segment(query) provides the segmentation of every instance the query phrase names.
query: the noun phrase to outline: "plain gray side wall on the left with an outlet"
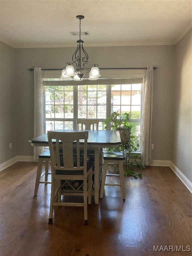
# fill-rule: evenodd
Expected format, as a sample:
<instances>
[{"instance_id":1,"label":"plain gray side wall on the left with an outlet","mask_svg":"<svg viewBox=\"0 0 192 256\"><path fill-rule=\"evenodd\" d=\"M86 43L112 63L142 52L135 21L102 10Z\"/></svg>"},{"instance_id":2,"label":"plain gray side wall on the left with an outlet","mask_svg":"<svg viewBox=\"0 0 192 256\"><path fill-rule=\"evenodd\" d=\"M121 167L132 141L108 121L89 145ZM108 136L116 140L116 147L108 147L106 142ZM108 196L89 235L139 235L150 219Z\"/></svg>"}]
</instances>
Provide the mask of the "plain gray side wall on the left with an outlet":
<instances>
[{"instance_id":1,"label":"plain gray side wall on the left with an outlet","mask_svg":"<svg viewBox=\"0 0 192 256\"><path fill-rule=\"evenodd\" d=\"M0 164L18 155L17 135L18 125L16 110L18 99L15 92L16 82L16 51L0 41ZM12 143L13 148L9 148Z\"/></svg>"}]
</instances>

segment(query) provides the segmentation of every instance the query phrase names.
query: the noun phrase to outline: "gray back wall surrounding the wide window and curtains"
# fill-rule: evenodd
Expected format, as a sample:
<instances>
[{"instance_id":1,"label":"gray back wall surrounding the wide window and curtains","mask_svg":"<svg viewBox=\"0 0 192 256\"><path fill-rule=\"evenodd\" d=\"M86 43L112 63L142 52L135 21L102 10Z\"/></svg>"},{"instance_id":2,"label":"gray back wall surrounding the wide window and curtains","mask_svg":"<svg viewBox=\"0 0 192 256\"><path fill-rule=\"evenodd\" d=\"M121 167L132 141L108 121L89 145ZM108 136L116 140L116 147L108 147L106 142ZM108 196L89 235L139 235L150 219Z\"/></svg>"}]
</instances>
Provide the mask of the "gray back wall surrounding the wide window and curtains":
<instances>
[{"instance_id":1,"label":"gray back wall surrounding the wide window and curtains","mask_svg":"<svg viewBox=\"0 0 192 256\"><path fill-rule=\"evenodd\" d=\"M170 160L175 46L88 47L86 50L90 64L97 63L101 68L158 67L154 71L153 159ZM16 49L18 90L23 97L19 108L23 109L22 118L28 120L20 127L24 145L20 144L21 155L32 155L32 147L27 141L33 137L33 72L27 69L62 68L71 60L74 51L75 48Z\"/></svg>"}]
</instances>

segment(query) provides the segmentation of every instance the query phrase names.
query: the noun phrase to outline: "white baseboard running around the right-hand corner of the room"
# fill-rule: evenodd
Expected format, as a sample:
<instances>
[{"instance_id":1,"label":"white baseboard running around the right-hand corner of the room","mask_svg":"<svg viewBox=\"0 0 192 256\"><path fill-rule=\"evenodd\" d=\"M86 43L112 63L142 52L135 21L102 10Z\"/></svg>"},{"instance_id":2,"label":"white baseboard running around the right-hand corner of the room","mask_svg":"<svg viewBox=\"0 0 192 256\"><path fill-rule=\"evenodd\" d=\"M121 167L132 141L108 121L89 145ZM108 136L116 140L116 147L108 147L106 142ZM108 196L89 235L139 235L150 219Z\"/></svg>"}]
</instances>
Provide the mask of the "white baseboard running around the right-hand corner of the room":
<instances>
[{"instance_id":1,"label":"white baseboard running around the right-hand corner of the room","mask_svg":"<svg viewBox=\"0 0 192 256\"><path fill-rule=\"evenodd\" d=\"M183 182L187 189L192 193L192 182L169 160L153 160L151 166L169 166L177 177Z\"/></svg>"}]
</instances>

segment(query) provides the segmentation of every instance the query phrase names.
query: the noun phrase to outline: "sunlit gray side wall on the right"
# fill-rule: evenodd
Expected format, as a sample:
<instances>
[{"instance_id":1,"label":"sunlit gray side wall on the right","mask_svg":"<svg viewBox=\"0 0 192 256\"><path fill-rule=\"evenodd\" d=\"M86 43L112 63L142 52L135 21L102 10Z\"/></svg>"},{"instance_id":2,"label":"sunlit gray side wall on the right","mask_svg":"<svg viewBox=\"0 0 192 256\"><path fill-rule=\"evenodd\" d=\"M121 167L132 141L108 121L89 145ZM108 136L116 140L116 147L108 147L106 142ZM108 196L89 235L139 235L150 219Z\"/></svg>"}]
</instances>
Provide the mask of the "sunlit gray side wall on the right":
<instances>
[{"instance_id":1,"label":"sunlit gray side wall on the right","mask_svg":"<svg viewBox=\"0 0 192 256\"><path fill-rule=\"evenodd\" d=\"M176 45L174 126L171 160L192 181L192 30Z\"/></svg>"}]
</instances>

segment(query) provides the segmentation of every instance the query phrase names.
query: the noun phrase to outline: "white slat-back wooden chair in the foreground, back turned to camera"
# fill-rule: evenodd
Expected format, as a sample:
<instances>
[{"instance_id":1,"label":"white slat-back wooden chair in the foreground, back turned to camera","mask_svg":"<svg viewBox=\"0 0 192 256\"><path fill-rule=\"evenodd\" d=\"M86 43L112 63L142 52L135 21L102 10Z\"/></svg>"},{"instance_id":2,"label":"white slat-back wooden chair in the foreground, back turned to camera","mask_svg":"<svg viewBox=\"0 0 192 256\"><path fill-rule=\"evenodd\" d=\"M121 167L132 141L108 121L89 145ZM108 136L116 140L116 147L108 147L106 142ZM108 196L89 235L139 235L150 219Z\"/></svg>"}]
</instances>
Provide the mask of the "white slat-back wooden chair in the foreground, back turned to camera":
<instances>
[{"instance_id":1,"label":"white slat-back wooden chair in the foreground, back turned to camera","mask_svg":"<svg viewBox=\"0 0 192 256\"><path fill-rule=\"evenodd\" d=\"M87 161L88 131L57 132L48 131L48 142L51 156L51 199L49 223L53 222L53 206L83 206L84 224L87 225L87 197L91 204L92 163ZM53 140L53 141L52 141ZM80 143L80 140L83 140ZM56 142L55 142L56 141ZM74 141L76 143L74 144ZM55 147L53 147L53 144ZM80 150L81 146L81 150ZM83 148L83 151L82 151ZM62 192L63 180L69 185L69 189ZM88 190L78 187L78 191L71 184L71 180L79 180L87 186ZM67 192L68 191L68 192ZM61 202L61 195L81 195L83 203ZM64 198L63 198L64 199ZM63 200L62 199L62 200Z\"/></svg>"}]
</instances>

